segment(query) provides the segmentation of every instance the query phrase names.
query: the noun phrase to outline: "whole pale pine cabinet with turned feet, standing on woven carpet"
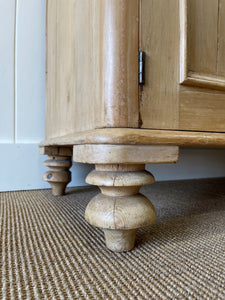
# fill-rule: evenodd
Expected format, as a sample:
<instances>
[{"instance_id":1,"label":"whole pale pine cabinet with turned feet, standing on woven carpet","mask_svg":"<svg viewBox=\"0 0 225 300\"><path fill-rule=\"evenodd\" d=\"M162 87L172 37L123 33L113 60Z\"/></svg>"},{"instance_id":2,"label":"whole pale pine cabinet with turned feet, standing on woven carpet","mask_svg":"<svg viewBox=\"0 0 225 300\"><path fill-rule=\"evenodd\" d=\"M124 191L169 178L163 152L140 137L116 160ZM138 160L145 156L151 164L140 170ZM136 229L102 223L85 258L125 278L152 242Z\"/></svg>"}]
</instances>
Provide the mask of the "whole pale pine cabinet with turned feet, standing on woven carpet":
<instances>
[{"instance_id":1,"label":"whole pale pine cabinet with turned feet, standing on woven carpet","mask_svg":"<svg viewBox=\"0 0 225 300\"><path fill-rule=\"evenodd\" d=\"M44 180L62 195L71 157L95 164L85 218L130 250L156 218L145 164L225 147L225 0L47 0L46 41Z\"/></svg>"}]
</instances>

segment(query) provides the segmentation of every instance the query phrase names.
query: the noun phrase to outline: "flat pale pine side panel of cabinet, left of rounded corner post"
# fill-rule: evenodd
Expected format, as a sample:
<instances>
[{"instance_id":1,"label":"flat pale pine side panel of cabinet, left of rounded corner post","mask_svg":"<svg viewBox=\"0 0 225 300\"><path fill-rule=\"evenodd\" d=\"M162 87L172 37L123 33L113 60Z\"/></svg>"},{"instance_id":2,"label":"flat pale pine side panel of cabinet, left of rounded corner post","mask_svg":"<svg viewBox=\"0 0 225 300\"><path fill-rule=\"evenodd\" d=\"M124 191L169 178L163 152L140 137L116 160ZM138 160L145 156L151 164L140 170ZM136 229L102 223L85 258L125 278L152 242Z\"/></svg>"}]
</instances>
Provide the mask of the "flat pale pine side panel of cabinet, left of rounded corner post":
<instances>
[{"instance_id":1,"label":"flat pale pine side panel of cabinet, left of rounded corner post","mask_svg":"<svg viewBox=\"0 0 225 300\"><path fill-rule=\"evenodd\" d=\"M47 1L46 138L104 126L99 0Z\"/></svg>"}]
</instances>

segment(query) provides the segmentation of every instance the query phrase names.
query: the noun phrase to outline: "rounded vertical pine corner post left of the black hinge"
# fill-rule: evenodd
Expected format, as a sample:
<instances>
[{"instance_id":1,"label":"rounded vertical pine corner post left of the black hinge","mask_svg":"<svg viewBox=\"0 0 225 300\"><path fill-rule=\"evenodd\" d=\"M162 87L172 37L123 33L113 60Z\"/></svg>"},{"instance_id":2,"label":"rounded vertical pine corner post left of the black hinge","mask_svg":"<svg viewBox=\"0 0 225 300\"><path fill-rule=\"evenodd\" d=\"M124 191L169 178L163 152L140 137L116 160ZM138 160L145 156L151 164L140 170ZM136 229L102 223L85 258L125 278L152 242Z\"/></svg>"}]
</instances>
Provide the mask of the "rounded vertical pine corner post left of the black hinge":
<instances>
[{"instance_id":1,"label":"rounded vertical pine corner post left of the black hinge","mask_svg":"<svg viewBox=\"0 0 225 300\"><path fill-rule=\"evenodd\" d=\"M138 126L138 0L102 0L105 127Z\"/></svg>"}]
</instances>

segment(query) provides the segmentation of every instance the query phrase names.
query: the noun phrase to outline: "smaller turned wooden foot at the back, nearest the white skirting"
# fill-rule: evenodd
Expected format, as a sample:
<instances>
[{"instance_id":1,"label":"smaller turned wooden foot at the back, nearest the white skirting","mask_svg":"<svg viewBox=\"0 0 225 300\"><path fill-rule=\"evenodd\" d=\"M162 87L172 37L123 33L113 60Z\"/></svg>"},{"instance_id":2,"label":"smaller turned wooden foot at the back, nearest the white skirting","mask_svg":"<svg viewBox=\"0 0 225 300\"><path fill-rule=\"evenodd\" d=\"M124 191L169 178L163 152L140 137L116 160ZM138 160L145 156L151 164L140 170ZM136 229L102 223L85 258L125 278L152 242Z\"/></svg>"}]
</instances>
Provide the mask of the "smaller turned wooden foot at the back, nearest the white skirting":
<instances>
[{"instance_id":1,"label":"smaller turned wooden foot at the back, nearest the white skirting","mask_svg":"<svg viewBox=\"0 0 225 300\"><path fill-rule=\"evenodd\" d=\"M53 196L64 195L66 186L71 181L71 157L49 156L43 164L50 169L44 174L43 180L51 185Z\"/></svg>"}]
</instances>

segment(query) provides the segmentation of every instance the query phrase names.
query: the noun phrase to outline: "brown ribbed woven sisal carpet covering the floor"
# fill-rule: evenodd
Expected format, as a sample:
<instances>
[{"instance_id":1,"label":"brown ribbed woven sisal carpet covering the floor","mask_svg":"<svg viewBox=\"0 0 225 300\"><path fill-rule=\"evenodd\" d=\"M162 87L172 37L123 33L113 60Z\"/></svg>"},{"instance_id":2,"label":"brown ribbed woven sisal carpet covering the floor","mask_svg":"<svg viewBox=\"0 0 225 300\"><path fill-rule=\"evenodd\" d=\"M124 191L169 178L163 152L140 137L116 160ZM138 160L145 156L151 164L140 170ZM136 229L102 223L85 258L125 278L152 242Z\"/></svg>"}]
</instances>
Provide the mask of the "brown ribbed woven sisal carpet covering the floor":
<instances>
[{"instance_id":1,"label":"brown ribbed woven sisal carpet covering the floor","mask_svg":"<svg viewBox=\"0 0 225 300\"><path fill-rule=\"evenodd\" d=\"M145 187L157 222L112 253L83 218L97 188L0 194L0 299L225 299L225 179Z\"/></svg>"}]
</instances>

